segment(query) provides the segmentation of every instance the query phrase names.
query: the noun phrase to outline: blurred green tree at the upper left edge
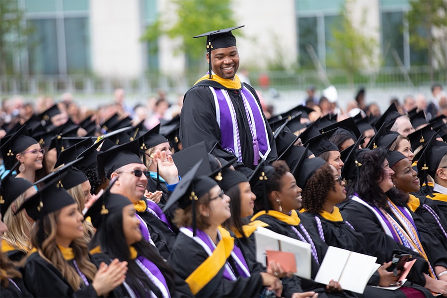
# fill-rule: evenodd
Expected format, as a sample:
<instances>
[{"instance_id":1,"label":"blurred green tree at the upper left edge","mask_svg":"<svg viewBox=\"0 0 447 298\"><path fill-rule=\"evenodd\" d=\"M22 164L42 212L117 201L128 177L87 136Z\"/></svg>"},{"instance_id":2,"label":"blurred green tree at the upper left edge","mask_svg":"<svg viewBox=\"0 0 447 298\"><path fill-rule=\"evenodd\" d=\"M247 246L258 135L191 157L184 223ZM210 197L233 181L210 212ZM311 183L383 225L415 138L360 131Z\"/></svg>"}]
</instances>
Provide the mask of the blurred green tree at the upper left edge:
<instances>
[{"instance_id":1,"label":"blurred green tree at the upper left edge","mask_svg":"<svg viewBox=\"0 0 447 298\"><path fill-rule=\"evenodd\" d=\"M0 0L0 74L14 74L13 55L26 47L26 35L31 32L17 0Z\"/></svg>"}]
</instances>

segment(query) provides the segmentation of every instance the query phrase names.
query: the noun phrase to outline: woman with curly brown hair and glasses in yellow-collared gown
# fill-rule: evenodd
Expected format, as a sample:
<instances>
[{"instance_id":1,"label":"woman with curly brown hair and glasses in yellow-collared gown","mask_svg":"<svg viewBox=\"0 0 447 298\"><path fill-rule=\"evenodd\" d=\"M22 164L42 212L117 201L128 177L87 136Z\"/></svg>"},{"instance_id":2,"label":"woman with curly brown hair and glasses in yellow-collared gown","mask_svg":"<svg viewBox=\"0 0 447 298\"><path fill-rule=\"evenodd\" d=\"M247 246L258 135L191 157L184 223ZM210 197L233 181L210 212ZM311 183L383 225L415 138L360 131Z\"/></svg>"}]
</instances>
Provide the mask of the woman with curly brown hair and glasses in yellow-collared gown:
<instances>
[{"instance_id":1,"label":"woman with curly brown hair and glasses in yellow-collared gown","mask_svg":"<svg viewBox=\"0 0 447 298\"><path fill-rule=\"evenodd\" d=\"M311 170L306 168L306 171ZM345 199L345 182L335 167L329 163L319 166L305 181L302 191L302 207L306 210L305 215L314 218L313 223L318 229L321 240L331 246L367 254L365 237L362 233L355 231L354 227L342 216L336 206ZM383 263L374 273L368 282L369 286L365 289L365 297L422 295L421 292L415 292L415 289L400 288L395 291L388 291L370 287L377 285L389 287L398 281L398 275L386 270L389 266L391 266L391 261ZM410 286L410 283L407 282L407 285ZM414 285L414 287L419 291L425 292L424 295L430 295L427 289L417 285Z\"/></svg>"}]
</instances>

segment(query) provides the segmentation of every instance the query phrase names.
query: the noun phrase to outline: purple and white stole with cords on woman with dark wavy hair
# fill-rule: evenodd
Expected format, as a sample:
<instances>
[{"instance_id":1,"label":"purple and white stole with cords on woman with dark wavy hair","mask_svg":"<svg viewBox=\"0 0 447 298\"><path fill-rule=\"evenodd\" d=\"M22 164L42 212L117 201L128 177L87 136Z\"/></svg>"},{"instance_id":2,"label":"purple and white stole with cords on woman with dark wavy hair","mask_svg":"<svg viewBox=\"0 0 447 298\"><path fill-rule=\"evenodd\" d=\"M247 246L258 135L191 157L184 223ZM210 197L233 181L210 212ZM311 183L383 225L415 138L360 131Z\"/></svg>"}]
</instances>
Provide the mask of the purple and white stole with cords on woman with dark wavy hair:
<instances>
[{"instance_id":1,"label":"purple and white stole with cords on woman with dark wavy hair","mask_svg":"<svg viewBox=\"0 0 447 298\"><path fill-rule=\"evenodd\" d=\"M416 225L414 224L413 218L411 217L411 214L408 210L403 207L394 205L394 203L392 203L388 199L388 206L390 207L391 212L398 218L399 223L402 224L401 226L383 208L370 206L368 203L366 203L356 195L352 196L351 199L370 209L380 222L383 231L388 236L392 237L394 241L419 253L429 265L430 276L434 279L437 279L435 271L433 270L433 267L428 260L427 254L425 253L424 248L419 241L419 235Z\"/></svg>"}]
</instances>

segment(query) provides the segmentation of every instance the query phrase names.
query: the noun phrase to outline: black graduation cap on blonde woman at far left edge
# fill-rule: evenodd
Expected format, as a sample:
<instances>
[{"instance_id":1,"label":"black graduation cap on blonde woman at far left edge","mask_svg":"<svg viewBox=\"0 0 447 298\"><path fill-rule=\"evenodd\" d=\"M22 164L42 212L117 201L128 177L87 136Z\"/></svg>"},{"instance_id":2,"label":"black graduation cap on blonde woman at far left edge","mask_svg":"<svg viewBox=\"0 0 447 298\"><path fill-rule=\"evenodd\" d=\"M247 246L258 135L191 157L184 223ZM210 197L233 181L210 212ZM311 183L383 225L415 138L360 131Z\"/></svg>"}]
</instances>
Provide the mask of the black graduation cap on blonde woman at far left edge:
<instances>
[{"instance_id":1,"label":"black graduation cap on blonde woman at far left edge","mask_svg":"<svg viewBox=\"0 0 447 298\"><path fill-rule=\"evenodd\" d=\"M8 210L12 202L17 199L28 188L33 187L33 184L23 178L14 178L11 173L17 168L19 162L16 162L14 167L1 179L0 185L0 214L2 218Z\"/></svg>"}]
</instances>

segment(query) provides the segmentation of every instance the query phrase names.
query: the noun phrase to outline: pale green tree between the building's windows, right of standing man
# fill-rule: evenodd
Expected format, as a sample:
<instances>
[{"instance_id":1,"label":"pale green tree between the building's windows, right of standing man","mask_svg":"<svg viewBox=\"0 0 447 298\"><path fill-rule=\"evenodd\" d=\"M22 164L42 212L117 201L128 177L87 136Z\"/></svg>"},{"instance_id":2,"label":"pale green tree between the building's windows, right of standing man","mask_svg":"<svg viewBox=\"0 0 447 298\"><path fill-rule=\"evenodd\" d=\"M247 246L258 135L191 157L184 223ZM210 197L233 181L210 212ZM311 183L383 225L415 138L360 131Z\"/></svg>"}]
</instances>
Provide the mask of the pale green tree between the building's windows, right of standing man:
<instances>
[{"instance_id":1,"label":"pale green tree between the building's windows, right of standing man","mask_svg":"<svg viewBox=\"0 0 447 298\"><path fill-rule=\"evenodd\" d=\"M354 26L349 4L349 1L346 1L341 10L340 25L331 30L332 39L328 42L329 57L326 65L343 70L349 82L354 84L355 74L375 68L380 60L375 52L378 48L377 40L358 29L366 23L366 11L363 11L360 26Z\"/></svg>"}]
</instances>

